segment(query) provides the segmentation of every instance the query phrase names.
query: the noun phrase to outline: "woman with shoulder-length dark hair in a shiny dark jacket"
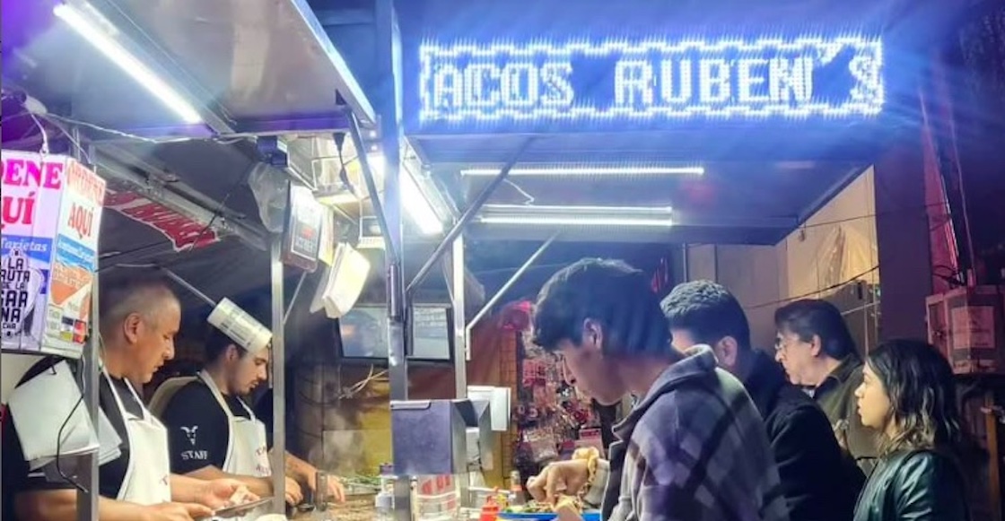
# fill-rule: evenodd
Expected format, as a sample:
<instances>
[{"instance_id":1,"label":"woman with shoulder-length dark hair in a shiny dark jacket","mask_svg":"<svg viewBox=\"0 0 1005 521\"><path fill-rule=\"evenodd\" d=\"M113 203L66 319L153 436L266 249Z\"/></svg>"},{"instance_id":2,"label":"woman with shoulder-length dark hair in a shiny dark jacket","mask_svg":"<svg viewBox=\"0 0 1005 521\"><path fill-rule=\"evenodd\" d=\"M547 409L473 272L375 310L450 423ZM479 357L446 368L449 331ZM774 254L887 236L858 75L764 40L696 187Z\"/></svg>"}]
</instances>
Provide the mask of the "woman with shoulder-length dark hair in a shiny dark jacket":
<instances>
[{"instance_id":1,"label":"woman with shoulder-length dark hair in a shiny dark jacket","mask_svg":"<svg viewBox=\"0 0 1005 521\"><path fill-rule=\"evenodd\" d=\"M869 352L855 398L862 425L881 442L854 521L969 520L963 429L946 358L923 341L885 342Z\"/></svg>"}]
</instances>

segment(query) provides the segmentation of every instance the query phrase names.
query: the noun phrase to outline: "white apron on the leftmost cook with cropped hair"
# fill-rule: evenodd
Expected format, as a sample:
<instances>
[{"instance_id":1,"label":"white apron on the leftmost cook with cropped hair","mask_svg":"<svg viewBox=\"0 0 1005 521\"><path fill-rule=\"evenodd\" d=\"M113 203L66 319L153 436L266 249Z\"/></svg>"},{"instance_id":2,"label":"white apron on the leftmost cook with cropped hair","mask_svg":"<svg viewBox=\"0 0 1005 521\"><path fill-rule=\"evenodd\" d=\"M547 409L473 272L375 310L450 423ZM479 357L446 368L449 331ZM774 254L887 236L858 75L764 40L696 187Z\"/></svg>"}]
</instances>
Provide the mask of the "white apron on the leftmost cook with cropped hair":
<instances>
[{"instance_id":1,"label":"white apron on the leftmost cook with cropped hair","mask_svg":"<svg viewBox=\"0 0 1005 521\"><path fill-rule=\"evenodd\" d=\"M171 501L171 458L168 455L168 430L143 407L143 401L133 385L127 381L130 393L143 408L143 416L133 415L123 406L122 398L115 382L104 368L102 372L109 385L116 405L126 424L126 438L129 441L130 456L126 466L126 476L116 497L119 501L129 501L140 505L157 505Z\"/></svg>"}]
</instances>

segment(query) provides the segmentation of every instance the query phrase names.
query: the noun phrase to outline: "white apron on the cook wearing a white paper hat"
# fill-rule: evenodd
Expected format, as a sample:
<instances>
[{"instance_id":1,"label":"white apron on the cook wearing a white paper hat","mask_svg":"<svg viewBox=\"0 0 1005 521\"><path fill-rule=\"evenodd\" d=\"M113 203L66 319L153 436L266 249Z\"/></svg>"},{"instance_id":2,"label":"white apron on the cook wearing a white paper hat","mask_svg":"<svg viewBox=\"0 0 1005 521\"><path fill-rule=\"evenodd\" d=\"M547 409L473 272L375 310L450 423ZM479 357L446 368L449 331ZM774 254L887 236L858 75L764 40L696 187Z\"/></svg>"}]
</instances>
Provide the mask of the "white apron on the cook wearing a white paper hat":
<instances>
[{"instance_id":1,"label":"white apron on the cook wearing a white paper hat","mask_svg":"<svg viewBox=\"0 0 1005 521\"><path fill-rule=\"evenodd\" d=\"M213 381L213 378L206 371L200 371L199 377L209 387L209 390L213 394L213 398L216 399L220 408L223 409L223 413L227 415L227 431L230 433L230 436L227 437L227 456L223 460L223 469L221 470L227 474L237 476L251 476L254 478L270 477L272 475L272 467L268 459L268 439L265 437L265 424L261 423L254 416L254 413L244 405L243 401L238 402L240 402L244 411L247 411L250 418L234 416L230 411L230 406L227 405L227 401L224 400L223 394L220 393L219 387L216 386L216 382ZM243 517L232 519L250 521L268 512L269 507L263 506L252 510Z\"/></svg>"}]
</instances>

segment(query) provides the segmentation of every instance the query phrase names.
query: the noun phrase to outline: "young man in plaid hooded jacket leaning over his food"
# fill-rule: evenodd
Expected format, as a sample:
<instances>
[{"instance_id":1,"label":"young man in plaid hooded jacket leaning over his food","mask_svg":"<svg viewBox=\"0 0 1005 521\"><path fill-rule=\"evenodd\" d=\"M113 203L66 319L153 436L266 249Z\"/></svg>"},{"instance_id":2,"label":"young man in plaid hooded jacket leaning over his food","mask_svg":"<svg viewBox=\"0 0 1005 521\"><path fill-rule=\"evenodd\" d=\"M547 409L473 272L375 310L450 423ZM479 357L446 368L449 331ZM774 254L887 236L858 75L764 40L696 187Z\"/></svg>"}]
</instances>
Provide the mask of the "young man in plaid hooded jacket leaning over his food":
<instances>
[{"instance_id":1,"label":"young man in plaid hooded jacket leaning over his food","mask_svg":"<svg viewBox=\"0 0 1005 521\"><path fill-rule=\"evenodd\" d=\"M562 358L570 382L600 404L638 398L593 483L594 461L553 464L532 480L536 498L586 487L596 503L606 488L603 517L616 521L789 519L757 409L708 346L671 347L644 273L600 259L561 270L538 296L533 331Z\"/></svg>"}]
</instances>

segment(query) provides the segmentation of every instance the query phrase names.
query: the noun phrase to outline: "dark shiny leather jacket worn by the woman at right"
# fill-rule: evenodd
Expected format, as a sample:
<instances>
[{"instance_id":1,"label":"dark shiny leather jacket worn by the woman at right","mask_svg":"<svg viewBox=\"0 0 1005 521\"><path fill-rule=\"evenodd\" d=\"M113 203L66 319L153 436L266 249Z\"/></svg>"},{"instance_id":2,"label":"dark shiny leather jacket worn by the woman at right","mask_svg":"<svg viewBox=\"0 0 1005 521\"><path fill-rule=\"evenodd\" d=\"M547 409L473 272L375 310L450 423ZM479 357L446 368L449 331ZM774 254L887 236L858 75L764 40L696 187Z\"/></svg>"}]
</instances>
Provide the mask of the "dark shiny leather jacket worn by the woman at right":
<instances>
[{"instance_id":1,"label":"dark shiny leather jacket worn by the woman at right","mask_svg":"<svg viewBox=\"0 0 1005 521\"><path fill-rule=\"evenodd\" d=\"M903 451L879 460L854 521L968 521L963 473L949 456Z\"/></svg>"}]
</instances>

